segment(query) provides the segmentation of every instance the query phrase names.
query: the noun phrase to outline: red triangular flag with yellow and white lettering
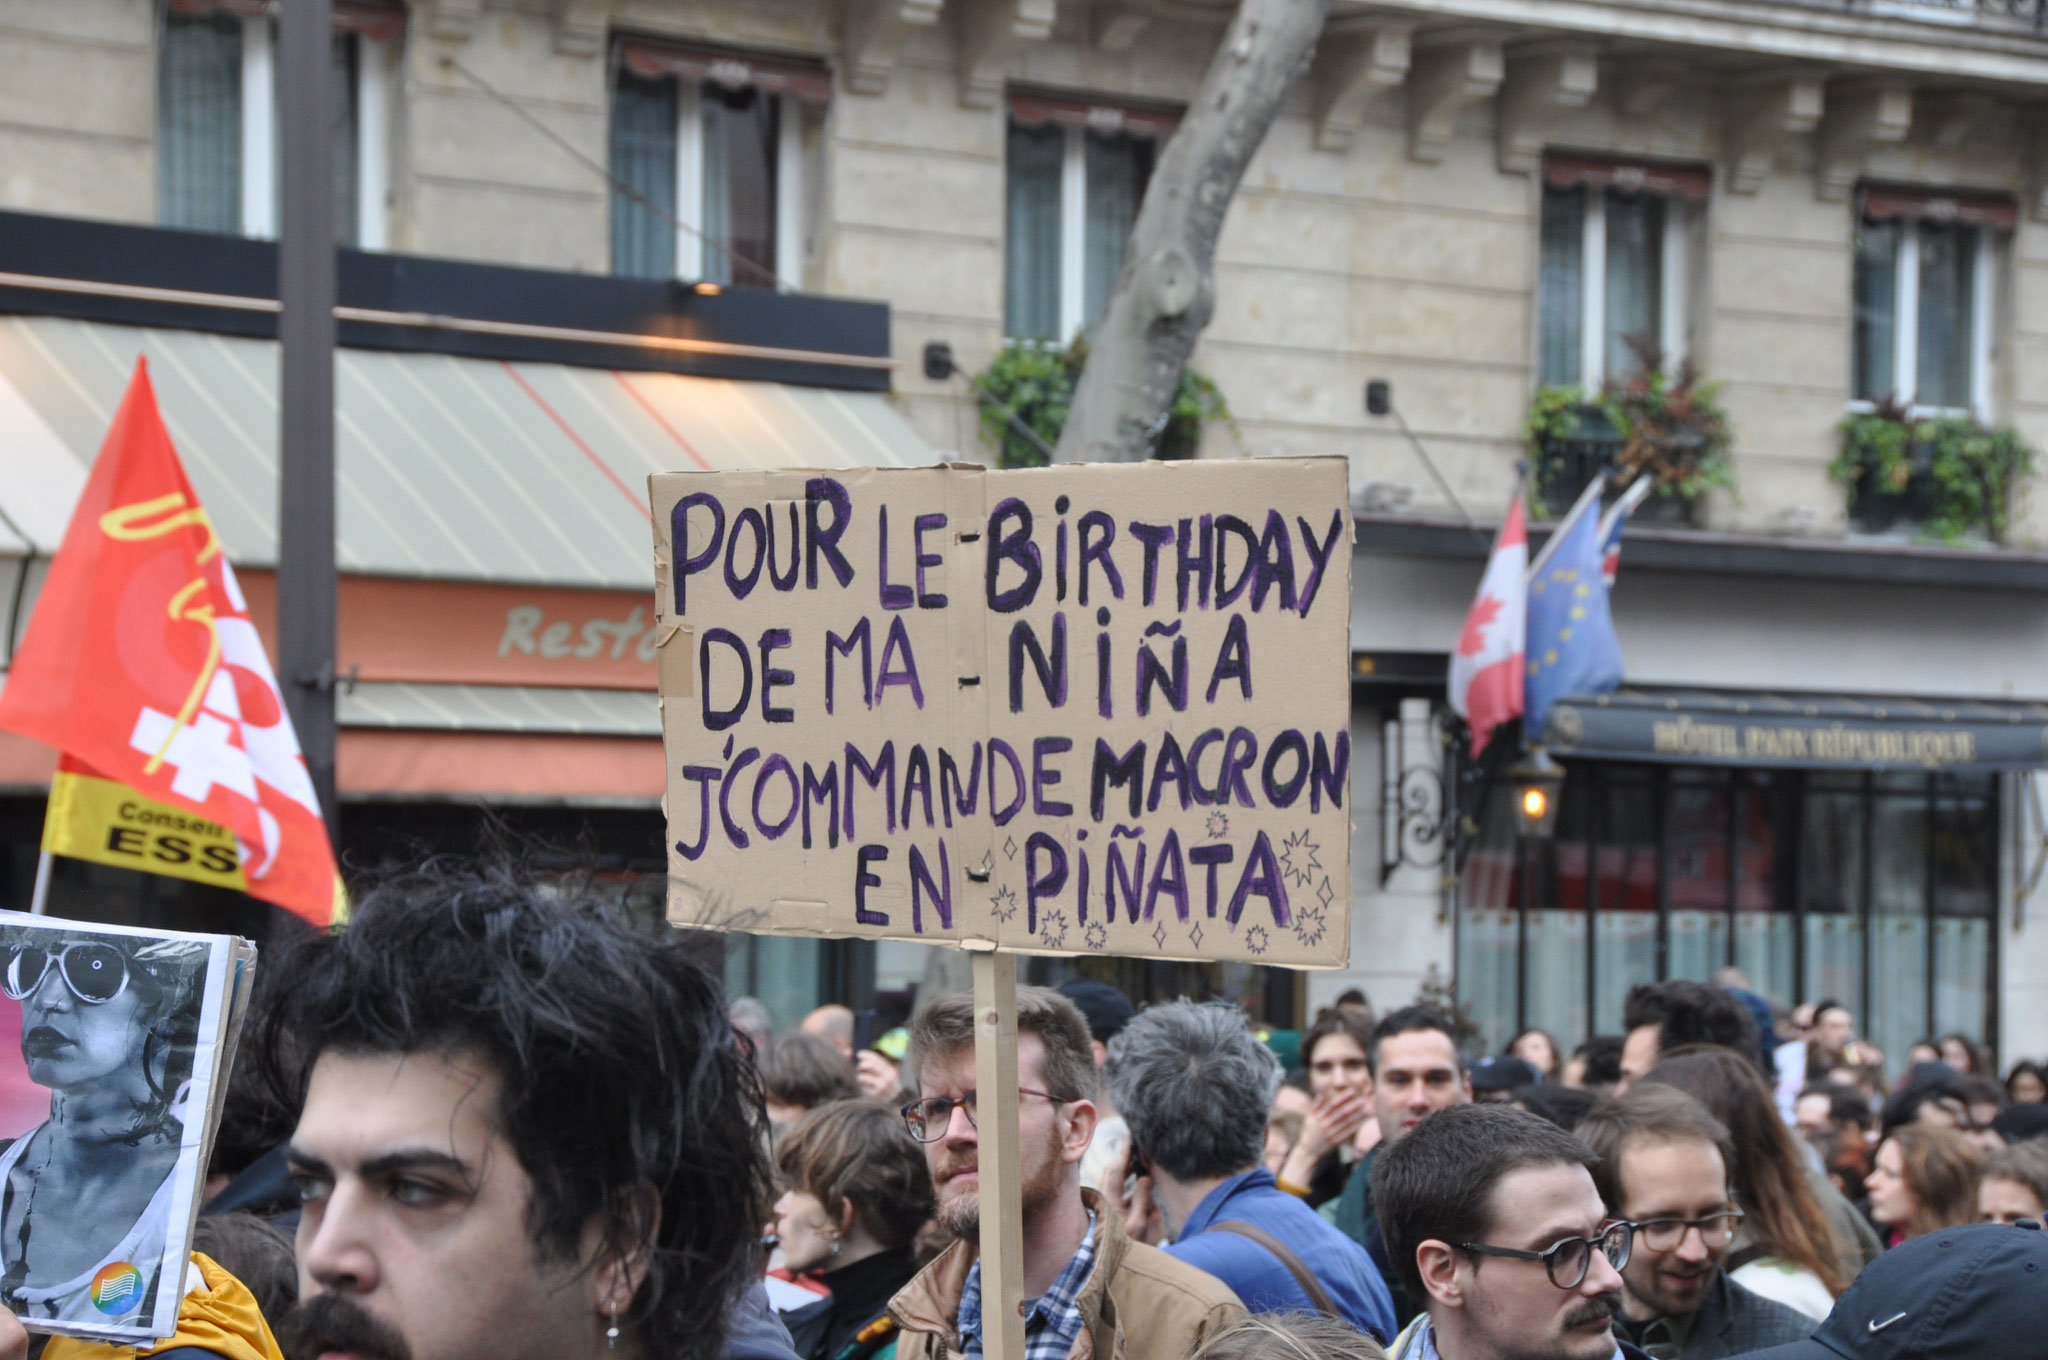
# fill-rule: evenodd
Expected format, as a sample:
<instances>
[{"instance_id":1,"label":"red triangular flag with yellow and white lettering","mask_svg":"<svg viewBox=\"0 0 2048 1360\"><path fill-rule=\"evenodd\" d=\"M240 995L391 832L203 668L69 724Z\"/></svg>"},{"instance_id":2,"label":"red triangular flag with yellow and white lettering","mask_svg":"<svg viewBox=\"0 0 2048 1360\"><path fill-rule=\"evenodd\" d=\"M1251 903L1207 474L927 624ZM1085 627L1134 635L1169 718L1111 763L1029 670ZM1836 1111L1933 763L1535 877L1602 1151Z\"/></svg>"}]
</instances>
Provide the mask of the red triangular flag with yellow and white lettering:
<instances>
[{"instance_id":1,"label":"red triangular flag with yellow and white lettering","mask_svg":"<svg viewBox=\"0 0 2048 1360\"><path fill-rule=\"evenodd\" d=\"M229 832L236 887L334 920L340 881L299 737L145 360L14 653L0 727L63 752L59 780L115 780ZM61 850L59 809L92 799L57 795L45 846ZM133 866L199 877L145 856Z\"/></svg>"}]
</instances>

